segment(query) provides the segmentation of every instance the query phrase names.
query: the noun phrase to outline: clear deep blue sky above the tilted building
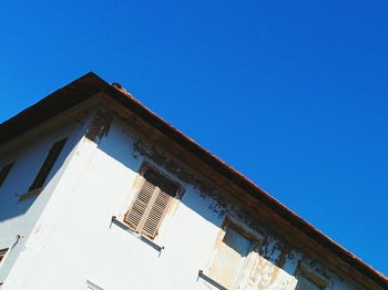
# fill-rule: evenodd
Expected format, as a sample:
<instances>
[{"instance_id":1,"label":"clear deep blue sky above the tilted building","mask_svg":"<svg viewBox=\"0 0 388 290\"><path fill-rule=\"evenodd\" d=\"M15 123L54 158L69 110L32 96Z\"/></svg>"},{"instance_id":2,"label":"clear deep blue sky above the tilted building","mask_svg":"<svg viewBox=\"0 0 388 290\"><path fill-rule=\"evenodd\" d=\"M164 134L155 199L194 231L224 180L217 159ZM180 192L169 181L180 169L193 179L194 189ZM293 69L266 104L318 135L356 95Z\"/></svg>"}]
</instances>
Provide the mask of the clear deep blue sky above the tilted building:
<instances>
[{"instance_id":1,"label":"clear deep blue sky above the tilted building","mask_svg":"<svg viewBox=\"0 0 388 290\"><path fill-rule=\"evenodd\" d=\"M63 2L0 3L0 122L94 71L388 273L387 1Z\"/></svg>"}]
</instances>

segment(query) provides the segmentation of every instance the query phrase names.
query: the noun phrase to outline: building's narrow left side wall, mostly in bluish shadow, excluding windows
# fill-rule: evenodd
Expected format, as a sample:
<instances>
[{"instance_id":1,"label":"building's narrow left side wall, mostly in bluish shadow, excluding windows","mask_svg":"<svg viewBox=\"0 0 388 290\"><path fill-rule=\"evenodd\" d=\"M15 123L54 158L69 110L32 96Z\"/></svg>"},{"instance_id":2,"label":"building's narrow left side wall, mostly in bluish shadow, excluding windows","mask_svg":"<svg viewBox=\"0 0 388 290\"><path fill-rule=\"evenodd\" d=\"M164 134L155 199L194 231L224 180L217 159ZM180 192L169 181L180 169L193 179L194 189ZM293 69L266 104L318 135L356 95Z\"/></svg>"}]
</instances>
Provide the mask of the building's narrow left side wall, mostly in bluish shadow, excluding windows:
<instances>
[{"instance_id":1,"label":"building's narrow left side wall, mostly in bluish shadow, excluding windows","mask_svg":"<svg viewBox=\"0 0 388 290\"><path fill-rule=\"evenodd\" d=\"M9 163L14 163L14 165L0 187L0 249L9 248L6 259L0 265L0 283L9 276L16 261L19 261L21 256L29 251L25 242L52 193L61 182L71 156L74 154L74 147L84 135L86 120L88 117L84 117L83 121L80 117L76 122L62 122L44 133L37 133L33 137L18 142L11 149L1 151L0 167ZM68 137L68 141L45 180L43 191L39 197L32 196L20 200L20 196L28 193L51 145L63 137ZM28 265L32 265L32 261L29 261ZM21 271L18 270L19 273ZM22 280L20 277L14 279Z\"/></svg>"}]
</instances>

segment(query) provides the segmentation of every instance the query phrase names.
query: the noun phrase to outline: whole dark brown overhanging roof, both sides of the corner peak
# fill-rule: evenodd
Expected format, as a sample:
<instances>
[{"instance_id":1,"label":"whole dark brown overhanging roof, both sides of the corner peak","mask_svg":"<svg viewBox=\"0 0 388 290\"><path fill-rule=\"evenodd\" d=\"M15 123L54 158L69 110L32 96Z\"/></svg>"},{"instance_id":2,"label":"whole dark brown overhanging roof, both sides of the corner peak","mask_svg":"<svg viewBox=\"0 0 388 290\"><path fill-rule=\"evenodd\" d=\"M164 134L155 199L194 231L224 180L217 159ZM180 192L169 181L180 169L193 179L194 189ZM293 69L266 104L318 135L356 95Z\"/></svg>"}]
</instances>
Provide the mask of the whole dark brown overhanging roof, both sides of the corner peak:
<instances>
[{"instance_id":1,"label":"whole dark brown overhanging roof, both sides of the corner peak","mask_svg":"<svg viewBox=\"0 0 388 290\"><path fill-rule=\"evenodd\" d=\"M254 198L258 199L262 204L274 210L277 215L290 222L297 229L302 230L309 238L317 241L320 246L335 253L363 275L369 277L379 286L388 289L388 278L386 276L378 272L358 257L346 250L344 247L325 236L318 229L265 193L247 177L232 168L229 165L195 143L195 141L187 137L160 116L151 112L124 90L119 89L116 85L109 84L93 72L90 72L64 87L51 93L37 104L25 108L18 115L0 124L0 146L21 134L27 133L55 115L76 106L99 92L104 92L114 101L131 110L144 122L159 130L170 139L174 141L198 159L236 184L238 187L253 195Z\"/></svg>"}]
</instances>

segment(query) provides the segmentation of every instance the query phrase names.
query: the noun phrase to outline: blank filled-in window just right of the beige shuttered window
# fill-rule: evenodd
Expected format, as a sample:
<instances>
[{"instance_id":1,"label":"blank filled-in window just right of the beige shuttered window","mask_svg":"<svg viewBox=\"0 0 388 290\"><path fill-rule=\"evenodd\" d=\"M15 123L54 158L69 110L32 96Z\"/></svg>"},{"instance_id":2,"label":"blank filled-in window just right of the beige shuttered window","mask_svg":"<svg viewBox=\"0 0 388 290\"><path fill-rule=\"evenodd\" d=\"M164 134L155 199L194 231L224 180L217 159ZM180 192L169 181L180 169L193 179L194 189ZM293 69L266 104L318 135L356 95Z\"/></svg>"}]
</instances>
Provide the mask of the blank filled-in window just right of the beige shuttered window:
<instances>
[{"instance_id":1,"label":"blank filled-in window just right of the beige shuttered window","mask_svg":"<svg viewBox=\"0 0 388 290\"><path fill-rule=\"evenodd\" d=\"M252 239L236 228L227 227L208 276L226 289L236 287L252 248Z\"/></svg>"}]
</instances>

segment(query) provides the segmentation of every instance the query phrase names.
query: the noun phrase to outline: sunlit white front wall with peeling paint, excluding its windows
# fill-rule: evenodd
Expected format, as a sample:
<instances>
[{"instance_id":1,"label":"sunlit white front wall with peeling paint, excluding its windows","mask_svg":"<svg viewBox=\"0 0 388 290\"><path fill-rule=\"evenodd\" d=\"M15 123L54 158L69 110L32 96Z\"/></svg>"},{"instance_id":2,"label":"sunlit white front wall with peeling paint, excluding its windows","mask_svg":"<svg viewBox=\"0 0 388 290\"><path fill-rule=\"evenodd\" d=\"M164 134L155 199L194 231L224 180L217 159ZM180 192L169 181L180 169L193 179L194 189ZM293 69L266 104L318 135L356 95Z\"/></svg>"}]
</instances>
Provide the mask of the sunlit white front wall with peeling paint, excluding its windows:
<instances>
[{"instance_id":1,"label":"sunlit white front wall with peeling paint, excluding its windows","mask_svg":"<svg viewBox=\"0 0 388 290\"><path fill-rule=\"evenodd\" d=\"M294 289L300 263L325 279L327 289L359 289L259 220L254 229L247 227L241 206L221 204L216 188L180 163L178 156L153 147L120 120L111 121L100 114L95 122L104 123L103 131L94 127L73 149L47 207L29 226L33 226L31 235L1 290L86 289L86 281L105 290L212 289L198 278L198 270L211 272L225 218L256 240L239 289ZM164 247L161 251L111 221L112 216L123 219L144 163L183 188L154 240ZM38 199L45 200L44 195ZM35 203L37 211L42 211L44 203ZM16 234L7 234L7 239Z\"/></svg>"}]
</instances>

